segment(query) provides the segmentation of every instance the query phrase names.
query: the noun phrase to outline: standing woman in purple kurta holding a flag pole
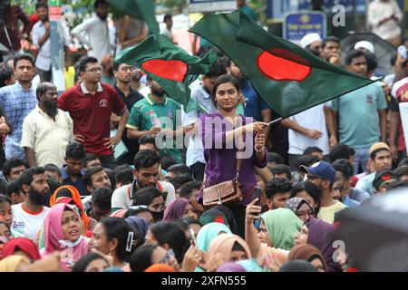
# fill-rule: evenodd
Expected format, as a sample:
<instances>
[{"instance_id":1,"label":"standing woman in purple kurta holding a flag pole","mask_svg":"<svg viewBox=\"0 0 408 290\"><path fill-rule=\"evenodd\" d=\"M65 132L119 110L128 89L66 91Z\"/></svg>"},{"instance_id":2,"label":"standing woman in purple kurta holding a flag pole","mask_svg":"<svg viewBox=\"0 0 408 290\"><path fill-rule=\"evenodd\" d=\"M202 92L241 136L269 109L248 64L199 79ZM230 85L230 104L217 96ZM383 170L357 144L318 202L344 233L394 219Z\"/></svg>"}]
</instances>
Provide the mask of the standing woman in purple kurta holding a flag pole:
<instances>
[{"instance_id":1,"label":"standing woman in purple kurta holding a flag pole","mask_svg":"<svg viewBox=\"0 0 408 290\"><path fill-rule=\"evenodd\" d=\"M242 152L242 164L238 182L243 200L241 204L228 205L238 223L239 236L244 236L245 207L252 201L257 185L255 167L267 166L264 122L253 122L250 117L237 114L239 85L236 78L225 74L214 84L213 100L218 107L215 113L200 118L199 132L204 147L205 188L236 178L238 146ZM238 141L238 137L243 137ZM202 198L202 192L199 195Z\"/></svg>"}]
</instances>

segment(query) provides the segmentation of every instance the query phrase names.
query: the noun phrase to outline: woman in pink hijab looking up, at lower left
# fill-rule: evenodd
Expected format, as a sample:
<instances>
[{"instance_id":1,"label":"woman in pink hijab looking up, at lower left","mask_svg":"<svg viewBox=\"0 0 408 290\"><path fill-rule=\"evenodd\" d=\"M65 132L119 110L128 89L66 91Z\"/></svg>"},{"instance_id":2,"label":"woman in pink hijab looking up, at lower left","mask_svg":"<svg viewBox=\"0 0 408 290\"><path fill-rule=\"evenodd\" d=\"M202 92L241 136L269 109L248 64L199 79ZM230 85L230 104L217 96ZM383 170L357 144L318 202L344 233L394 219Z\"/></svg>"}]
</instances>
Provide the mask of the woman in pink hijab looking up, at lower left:
<instances>
[{"instance_id":1,"label":"woman in pink hijab looking up, at lower left","mask_svg":"<svg viewBox=\"0 0 408 290\"><path fill-rule=\"evenodd\" d=\"M48 211L44 220L43 256L62 251L61 259L64 271L82 256L88 254L88 240L81 235L81 218L73 206L56 204Z\"/></svg>"}]
</instances>

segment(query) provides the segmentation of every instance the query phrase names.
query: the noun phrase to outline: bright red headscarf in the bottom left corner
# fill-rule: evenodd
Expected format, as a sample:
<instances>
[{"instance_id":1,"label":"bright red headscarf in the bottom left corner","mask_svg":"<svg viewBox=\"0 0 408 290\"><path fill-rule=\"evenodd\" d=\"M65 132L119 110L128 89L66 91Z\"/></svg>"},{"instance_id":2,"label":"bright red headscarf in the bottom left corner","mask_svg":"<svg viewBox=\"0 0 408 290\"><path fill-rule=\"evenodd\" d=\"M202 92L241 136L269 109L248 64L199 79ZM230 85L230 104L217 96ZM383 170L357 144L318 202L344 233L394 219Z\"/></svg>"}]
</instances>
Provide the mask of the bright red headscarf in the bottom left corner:
<instances>
[{"instance_id":1,"label":"bright red headscarf in the bottom left corner","mask_svg":"<svg viewBox=\"0 0 408 290\"><path fill-rule=\"evenodd\" d=\"M12 255L24 256L31 261L41 259L38 247L31 239L26 237L15 237L5 243L2 251L3 258Z\"/></svg>"}]
</instances>

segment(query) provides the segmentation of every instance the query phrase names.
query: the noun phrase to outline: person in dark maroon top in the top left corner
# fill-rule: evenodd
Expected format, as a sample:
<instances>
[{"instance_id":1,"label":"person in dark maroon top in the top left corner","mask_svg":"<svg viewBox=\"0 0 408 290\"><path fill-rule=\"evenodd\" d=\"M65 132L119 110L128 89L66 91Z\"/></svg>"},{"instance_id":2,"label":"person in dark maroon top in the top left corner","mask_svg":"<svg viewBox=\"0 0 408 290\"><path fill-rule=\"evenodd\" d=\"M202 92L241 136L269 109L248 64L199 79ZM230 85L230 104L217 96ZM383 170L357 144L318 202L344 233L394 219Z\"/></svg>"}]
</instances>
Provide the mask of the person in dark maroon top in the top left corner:
<instances>
[{"instance_id":1,"label":"person in dark maroon top in the top left corner","mask_svg":"<svg viewBox=\"0 0 408 290\"><path fill-rule=\"evenodd\" d=\"M9 0L1 1L0 3L0 43L5 45L9 53L4 53L3 58L6 59L13 54L16 54L21 49L20 39L26 38L30 34L30 20L19 6L10 5ZM24 24L23 33L20 33L18 20ZM5 30L8 34L5 34ZM11 43L11 45L10 45Z\"/></svg>"}]
</instances>

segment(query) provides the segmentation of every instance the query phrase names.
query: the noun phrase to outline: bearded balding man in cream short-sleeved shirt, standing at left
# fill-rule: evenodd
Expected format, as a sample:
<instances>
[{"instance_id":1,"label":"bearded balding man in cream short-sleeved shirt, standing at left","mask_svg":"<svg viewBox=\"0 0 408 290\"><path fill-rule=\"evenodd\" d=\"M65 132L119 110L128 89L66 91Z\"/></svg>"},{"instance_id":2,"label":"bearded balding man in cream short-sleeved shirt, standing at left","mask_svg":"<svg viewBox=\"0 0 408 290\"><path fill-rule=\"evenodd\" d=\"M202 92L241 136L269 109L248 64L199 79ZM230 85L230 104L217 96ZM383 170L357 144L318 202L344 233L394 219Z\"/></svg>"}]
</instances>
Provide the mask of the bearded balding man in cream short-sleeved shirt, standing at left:
<instances>
[{"instance_id":1,"label":"bearded balding man in cream short-sleeved shirt, standing at left","mask_svg":"<svg viewBox=\"0 0 408 290\"><path fill-rule=\"evenodd\" d=\"M51 82L42 82L36 94L39 103L24 119L20 146L30 167L52 163L60 168L66 147L74 140L73 120L58 109L57 89Z\"/></svg>"}]
</instances>

